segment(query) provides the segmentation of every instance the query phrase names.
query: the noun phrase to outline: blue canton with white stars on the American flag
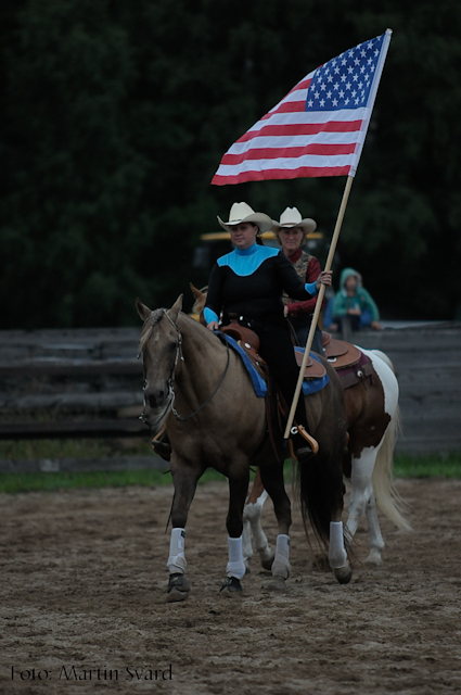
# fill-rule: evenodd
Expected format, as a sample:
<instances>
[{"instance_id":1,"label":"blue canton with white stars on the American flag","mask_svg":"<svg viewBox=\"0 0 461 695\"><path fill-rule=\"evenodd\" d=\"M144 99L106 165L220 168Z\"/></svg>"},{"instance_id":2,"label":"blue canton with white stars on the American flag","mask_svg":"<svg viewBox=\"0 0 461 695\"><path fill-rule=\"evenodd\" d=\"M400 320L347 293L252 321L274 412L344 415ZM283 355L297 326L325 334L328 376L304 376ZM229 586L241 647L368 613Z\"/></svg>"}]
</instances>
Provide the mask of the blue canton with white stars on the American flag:
<instances>
[{"instance_id":1,"label":"blue canton with white stars on the American flag","mask_svg":"<svg viewBox=\"0 0 461 695\"><path fill-rule=\"evenodd\" d=\"M366 106L383 40L384 34L318 67L307 90L305 111Z\"/></svg>"}]
</instances>

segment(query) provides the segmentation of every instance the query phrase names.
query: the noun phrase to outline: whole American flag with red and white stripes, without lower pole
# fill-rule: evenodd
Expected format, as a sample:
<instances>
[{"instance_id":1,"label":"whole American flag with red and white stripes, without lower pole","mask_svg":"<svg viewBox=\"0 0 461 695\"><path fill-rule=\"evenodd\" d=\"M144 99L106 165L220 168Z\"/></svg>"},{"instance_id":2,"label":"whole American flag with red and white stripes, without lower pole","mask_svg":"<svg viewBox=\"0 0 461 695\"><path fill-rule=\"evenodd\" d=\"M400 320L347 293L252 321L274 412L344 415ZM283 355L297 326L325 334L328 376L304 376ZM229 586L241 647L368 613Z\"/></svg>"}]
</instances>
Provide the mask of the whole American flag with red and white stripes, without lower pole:
<instances>
[{"instance_id":1,"label":"whole American flag with red and white stripes, without lower pole","mask_svg":"<svg viewBox=\"0 0 461 695\"><path fill-rule=\"evenodd\" d=\"M392 31L304 77L228 150L212 184L354 176Z\"/></svg>"}]
</instances>

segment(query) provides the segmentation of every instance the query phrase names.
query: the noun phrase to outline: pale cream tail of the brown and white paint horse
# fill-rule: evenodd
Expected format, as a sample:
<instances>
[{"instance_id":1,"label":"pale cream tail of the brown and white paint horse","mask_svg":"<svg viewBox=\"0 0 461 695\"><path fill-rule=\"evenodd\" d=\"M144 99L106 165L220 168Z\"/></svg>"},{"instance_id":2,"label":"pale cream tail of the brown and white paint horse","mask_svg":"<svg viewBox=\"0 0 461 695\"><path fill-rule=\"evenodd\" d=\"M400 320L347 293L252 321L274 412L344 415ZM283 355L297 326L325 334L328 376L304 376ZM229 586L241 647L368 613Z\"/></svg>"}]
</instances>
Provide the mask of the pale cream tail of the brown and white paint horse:
<instances>
[{"instance_id":1,"label":"pale cream tail of the brown and white paint horse","mask_svg":"<svg viewBox=\"0 0 461 695\"><path fill-rule=\"evenodd\" d=\"M410 523L404 517L408 505L400 497L394 484L394 446L400 431L400 409L397 406L377 452L371 481L381 511L402 531L412 531Z\"/></svg>"}]
</instances>

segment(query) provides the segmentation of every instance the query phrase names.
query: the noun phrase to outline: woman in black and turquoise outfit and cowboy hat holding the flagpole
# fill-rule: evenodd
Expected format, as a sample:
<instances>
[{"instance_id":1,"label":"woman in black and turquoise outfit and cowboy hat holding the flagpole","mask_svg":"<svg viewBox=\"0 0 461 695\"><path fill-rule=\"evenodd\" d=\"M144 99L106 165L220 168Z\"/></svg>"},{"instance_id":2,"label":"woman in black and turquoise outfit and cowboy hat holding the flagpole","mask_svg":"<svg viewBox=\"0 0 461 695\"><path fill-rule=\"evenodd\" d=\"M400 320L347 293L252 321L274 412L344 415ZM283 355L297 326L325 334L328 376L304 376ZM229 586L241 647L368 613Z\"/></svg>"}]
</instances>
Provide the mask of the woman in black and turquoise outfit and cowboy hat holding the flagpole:
<instances>
[{"instance_id":1,"label":"woman in black and turquoise outfit and cowboy hat holding the flagpole","mask_svg":"<svg viewBox=\"0 0 461 695\"><path fill-rule=\"evenodd\" d=\"M234 250L218 258L212 269L204 309L207 327L217 330L220 320L229 324L233 314L242 326L253 329L260 340L260 354L290 407L299 368L282 294L285 291L293 299L308 300L321 283L331 285L331 271L320 273L313 282L304 282L281 249L262 245L260 235L269 231L273 222L246 203L234 203L228 222L220 217L218 222L230 232ZM298 399L295 420L309 431L303 397ZM293 446L300 463L312 455L311 446L299 432L293 434Z\"/></svg>"}]
</instances>

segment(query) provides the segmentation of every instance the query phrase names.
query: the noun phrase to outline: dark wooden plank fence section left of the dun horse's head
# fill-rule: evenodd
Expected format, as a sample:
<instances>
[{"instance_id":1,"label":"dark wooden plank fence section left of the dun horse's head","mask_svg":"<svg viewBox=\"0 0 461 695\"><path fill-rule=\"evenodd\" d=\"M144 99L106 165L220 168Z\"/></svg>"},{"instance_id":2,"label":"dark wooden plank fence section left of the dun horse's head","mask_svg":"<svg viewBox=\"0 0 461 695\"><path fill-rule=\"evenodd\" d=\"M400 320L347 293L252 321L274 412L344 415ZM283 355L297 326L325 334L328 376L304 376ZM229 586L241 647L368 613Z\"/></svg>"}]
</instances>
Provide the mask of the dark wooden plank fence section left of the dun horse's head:
<instances>
[{"instance_id":1,"label":"dark wooden plank fence section left of the dun horse's head","mask_svg":"<svg viewBox=\"0 0 461 695\"><path fill-rule=\"evenodd\" d=\"M139 334L0 332L0 439L148 435Z\"/></svg>"}]
</instances>

